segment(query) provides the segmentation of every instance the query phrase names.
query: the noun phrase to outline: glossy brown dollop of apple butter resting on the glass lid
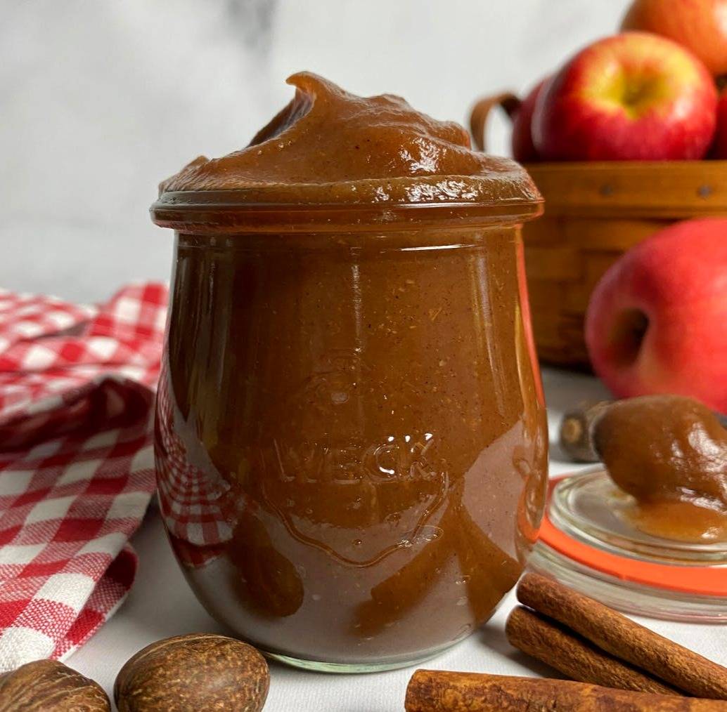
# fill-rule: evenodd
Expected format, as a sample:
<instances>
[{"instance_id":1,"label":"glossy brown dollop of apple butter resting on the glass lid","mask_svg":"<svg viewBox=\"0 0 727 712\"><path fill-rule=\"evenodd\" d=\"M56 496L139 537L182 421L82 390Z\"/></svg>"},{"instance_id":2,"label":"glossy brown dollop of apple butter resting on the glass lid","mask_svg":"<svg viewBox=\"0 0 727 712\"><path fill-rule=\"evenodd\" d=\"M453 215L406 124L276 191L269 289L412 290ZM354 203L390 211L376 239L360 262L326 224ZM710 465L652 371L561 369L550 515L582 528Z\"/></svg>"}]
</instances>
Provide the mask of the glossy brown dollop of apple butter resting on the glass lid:
<instances>
[{"instance_id":1,"label":"glossy brown dollop of apple butter resting on the glass lid","mask_svg":"<svg viewBox=\"0 0 727 712\"><path fill-rule=\"evenodd\" d=\"M691 398L644 396L606 409L595 443L636 499L643 531L684 541L727 540L727 430Z\"/></svg>"}]
</instances>

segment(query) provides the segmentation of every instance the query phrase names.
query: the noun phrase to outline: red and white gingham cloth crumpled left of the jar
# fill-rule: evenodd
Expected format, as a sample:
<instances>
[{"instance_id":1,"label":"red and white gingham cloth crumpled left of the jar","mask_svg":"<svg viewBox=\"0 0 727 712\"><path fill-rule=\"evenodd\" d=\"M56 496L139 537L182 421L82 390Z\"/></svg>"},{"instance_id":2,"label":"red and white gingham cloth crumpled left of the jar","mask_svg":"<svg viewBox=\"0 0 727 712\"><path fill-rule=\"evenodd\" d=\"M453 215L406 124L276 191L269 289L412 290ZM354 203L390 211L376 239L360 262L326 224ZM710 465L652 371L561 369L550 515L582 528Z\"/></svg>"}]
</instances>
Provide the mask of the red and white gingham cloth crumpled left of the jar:
<instances>
[{"instance_id":1,"label":"red and white gingham cloth crumpled left of the jar","mask_svg":"<svg viewBox=\"0 0 727 712\"><path fill-rule=\"evenodd\" d=\"M129 592L166 299L0 290L0 672L70 655Z\"/></svg>"}]
</instances>

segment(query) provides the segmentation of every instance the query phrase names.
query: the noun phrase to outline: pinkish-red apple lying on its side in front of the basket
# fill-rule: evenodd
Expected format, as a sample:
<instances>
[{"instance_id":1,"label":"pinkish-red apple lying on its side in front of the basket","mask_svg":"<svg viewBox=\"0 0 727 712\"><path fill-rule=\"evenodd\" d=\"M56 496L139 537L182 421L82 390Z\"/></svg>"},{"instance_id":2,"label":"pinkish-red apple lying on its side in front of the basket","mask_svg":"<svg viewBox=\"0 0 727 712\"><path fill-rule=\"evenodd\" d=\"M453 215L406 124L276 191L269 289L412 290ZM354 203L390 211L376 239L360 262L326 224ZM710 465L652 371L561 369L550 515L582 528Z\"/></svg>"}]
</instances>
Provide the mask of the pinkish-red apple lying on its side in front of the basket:
<instances>
[{"instance_id":1,"label":"pinkish-red apple lying on its side in front of the basket","mask_svg":"<svg viewBox=\"0 0 727 712\"><path fill-rule=\"evenodd\" d=\"M727 218L676 223L619 258L585 336L616 396L677 393L727 413Z\"/></svg>"}]
</instances>

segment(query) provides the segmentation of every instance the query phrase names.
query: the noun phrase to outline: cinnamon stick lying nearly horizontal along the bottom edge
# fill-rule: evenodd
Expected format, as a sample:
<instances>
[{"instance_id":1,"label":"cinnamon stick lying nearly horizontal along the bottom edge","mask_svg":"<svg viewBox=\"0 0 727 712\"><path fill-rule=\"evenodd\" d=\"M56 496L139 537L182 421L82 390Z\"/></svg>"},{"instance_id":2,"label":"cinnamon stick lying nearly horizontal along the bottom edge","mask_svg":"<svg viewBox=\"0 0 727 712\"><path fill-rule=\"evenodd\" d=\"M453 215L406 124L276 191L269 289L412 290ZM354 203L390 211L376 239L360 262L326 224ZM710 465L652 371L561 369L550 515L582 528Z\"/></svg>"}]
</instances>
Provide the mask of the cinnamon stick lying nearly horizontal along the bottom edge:
<instances>
[{"instance_id":1,"label":"cinnamon stick lying nearly horizontal along the bottom edge","mask_svg":"<svg viewBox=\"0 0 727 712\"><path fill-rule=\"evenodd\" d=\"M726 712L727 702L612 690L571 680L417 670L406 712Z\"/></svg>"}]
</instances>

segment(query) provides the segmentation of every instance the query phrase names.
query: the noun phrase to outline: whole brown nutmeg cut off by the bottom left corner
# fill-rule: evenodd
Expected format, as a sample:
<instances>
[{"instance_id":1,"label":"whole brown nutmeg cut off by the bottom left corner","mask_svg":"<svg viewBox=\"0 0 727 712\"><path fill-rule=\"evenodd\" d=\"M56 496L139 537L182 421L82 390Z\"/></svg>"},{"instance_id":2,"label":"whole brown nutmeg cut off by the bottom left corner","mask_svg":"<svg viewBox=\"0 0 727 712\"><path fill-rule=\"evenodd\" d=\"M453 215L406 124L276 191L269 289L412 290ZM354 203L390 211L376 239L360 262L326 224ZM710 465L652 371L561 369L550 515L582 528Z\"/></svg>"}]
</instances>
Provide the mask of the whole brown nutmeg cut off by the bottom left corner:
<instances>
[{"instance_id":1,"label":"whole brown nutmeg cut off by the bottom left corner","mask_svg":"<svg viewBox=\"0 0 727 712\"><path fill-rule=\"evenodd\" d=\"M0 712L111 712L103 687L57 660L0 676Z\"/></svg>"}]
</instances>

